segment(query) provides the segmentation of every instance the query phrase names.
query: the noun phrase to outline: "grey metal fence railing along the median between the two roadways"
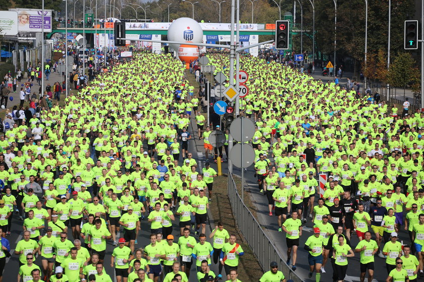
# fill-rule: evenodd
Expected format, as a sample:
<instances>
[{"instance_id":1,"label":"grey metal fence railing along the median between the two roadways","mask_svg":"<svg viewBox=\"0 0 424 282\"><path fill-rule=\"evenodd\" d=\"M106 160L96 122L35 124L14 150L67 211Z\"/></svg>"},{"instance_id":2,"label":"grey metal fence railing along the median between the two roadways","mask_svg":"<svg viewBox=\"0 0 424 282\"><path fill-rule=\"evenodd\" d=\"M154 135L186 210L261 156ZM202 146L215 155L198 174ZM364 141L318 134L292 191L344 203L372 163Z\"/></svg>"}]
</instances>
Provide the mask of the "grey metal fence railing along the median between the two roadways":
<instances>
[{"instance_id":1,"label":"grey metal fence railing along the median between the two roadways","mask_svg":"<svg viewBox=\"0 0 424 282\"><path fill-rule=\"evenodd\" d=\"M263 233L260 224L242 202L231 174L228 175L227 187L234 219L262 269L264 271L270 270L270 263L276 261L279 264L279 270L284 273L286 279L293 279L294 282L302 282L303 280L289 268L281 253L277 250L277 247Z\"/></svg>"}]
</instances>

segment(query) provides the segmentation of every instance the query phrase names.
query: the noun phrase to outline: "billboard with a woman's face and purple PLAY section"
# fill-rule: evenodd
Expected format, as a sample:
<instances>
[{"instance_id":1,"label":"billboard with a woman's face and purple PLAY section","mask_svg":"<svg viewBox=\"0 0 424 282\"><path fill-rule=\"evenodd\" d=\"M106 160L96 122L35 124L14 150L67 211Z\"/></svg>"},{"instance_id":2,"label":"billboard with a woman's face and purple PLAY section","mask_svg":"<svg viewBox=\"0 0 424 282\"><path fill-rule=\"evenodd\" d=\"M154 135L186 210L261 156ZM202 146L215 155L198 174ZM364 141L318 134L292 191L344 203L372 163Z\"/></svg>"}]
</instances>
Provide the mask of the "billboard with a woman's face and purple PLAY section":
<instances>
[{"instance_id":1,"label":"billboard with a woman's face and purple PLAY section","mask_svg":"<svg viewBox=\"0 0 424 282\"><path fill-rule=\"evenodd\" d=\"M41 32L42 19L44 18L44 32L51 32L51 10L37 9L9 9L15 11L18 15L18 31L19 32Z\"/></svg>"}]
</instances>

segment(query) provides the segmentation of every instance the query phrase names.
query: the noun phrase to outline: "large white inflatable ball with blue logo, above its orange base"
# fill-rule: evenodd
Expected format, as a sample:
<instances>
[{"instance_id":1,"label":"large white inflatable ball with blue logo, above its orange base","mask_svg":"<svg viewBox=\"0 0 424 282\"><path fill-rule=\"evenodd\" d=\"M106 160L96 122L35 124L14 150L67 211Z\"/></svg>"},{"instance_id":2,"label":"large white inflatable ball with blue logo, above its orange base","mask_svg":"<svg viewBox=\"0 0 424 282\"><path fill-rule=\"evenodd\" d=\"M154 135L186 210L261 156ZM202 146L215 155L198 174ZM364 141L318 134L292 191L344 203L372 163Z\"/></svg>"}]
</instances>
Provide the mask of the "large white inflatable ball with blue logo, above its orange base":
<instances>
[{"instance_id":1,"label":"large white inflatable ball with blue logo, above its orange base","mask_svg":"<svg viewBox=\"0 0 424 282\"><path fill-rule=\"evenodd\" d=\"M191 18L179 18L171 23L168 28L169 41L183 41L201 43L203 30L198 22ZM180 44L170 44L178 52Z\"/></svg>"}]
</instances>

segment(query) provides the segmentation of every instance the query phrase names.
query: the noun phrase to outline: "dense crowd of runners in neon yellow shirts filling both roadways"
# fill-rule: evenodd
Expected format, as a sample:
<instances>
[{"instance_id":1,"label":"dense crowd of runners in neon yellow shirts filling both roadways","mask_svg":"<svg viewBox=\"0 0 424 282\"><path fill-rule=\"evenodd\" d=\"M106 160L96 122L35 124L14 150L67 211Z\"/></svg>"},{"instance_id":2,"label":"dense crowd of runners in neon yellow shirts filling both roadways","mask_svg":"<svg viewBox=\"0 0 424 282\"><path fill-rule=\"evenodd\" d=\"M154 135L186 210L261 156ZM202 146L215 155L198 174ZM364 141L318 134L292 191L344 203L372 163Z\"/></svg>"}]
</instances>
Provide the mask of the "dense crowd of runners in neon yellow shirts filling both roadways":
<instances>
[{"instance_id":1,"label":"dense crowd of runners in neon yellow shirts filling both roadways","mask_svg":"<svg viewBox=\"0 0 424 282\"><path fill-rule=\"evenodd\" d=\"M228 72L227 54L209 60ZM245 56L241 65L249 73L241 112L256 125L250 143L258 190L284 232L292 270L302 225L311 221L314 235L300 247L316 281L328 260L333 280L343 281L355 253L361 281L366 273L372 281L375 256L385 260L389 282L424 277L423 114L404 108L398 115L396 105L274 61ZM0 136L0 270L17 255L18 282L110 282L113 275L168 282L188 281L195 263L199 281L222 279L224 271L237 281L244 251L236 236L222 223L206 236L217 177L211 164L222 149L208 140L215 128L202 114L200 92L180 61L143 52L99 74L65 105L42 108L27 122L13 119L19 122ZM188 146L196 138L206 151L202 169ZM328 181L320 194L322 173ZM16 229L23 239L14 246L7 238ZM151 233L141 249L140 230ZM403 246L402 232L410 238ZM261 282L285 281L277 263L270 268Z\"/></svg>"}]
</instances>

